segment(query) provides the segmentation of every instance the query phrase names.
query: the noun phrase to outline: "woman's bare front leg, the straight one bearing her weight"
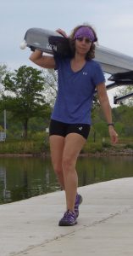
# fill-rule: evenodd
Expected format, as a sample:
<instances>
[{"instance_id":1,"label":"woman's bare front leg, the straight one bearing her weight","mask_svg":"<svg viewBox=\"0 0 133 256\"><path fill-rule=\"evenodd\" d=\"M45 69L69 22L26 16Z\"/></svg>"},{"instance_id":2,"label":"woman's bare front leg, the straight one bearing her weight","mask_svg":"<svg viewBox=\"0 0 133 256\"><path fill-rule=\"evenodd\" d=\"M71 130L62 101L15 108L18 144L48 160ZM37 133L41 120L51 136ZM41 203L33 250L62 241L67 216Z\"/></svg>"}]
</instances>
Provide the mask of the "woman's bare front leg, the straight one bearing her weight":
<instances>
[{"instance_id":1,"label":"woman's bare front leg, the straight one bearing her weight","mask_svg":"<svg viewBox=\"0 0 133 256\"><path fill-rule=\"evenodd\" d=\"M78 187L78 177L75 171L75 165L80 154L81 148L86 143L86 139L80 134L69 133L64 141L64 154L63 154L63 172L64 172L64 187L66 194L67 209L75 212L75 196Z\"/></svg>"}]
</instances>

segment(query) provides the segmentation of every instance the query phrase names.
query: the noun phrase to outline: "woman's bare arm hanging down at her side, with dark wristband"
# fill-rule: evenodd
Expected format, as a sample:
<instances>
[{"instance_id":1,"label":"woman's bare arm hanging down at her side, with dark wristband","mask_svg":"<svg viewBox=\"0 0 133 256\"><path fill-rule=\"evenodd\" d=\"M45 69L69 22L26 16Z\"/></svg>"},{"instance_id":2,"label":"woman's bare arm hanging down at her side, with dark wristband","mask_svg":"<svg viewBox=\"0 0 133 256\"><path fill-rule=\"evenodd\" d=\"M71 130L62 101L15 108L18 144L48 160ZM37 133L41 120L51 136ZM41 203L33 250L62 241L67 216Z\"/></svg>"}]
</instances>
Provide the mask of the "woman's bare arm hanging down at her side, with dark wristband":
<instances>
[{"instance_id":1,"label":"woman's bare arm hanging down at her side, with dark wristband","mask_svg":"<svg viewBox=\"0 0 133 256\"><path fill-rule=\"evenodd\" d=\"M100 105L103 109L105 119L107 120L107 123L112 124L112 122L113 122L112 121L112 111L111 111L111 108L110 108L110 104L109 104L109 101L108 101L108 94L107 94L106 86L105 86L104 83L97 84L97 95L98 95ZM109 132L109 135L111 137L111 142L112 143L117 143L118 142L118 134L114 130L113 125L108 125L108 132Z\"/></svg>"}]
</instances>

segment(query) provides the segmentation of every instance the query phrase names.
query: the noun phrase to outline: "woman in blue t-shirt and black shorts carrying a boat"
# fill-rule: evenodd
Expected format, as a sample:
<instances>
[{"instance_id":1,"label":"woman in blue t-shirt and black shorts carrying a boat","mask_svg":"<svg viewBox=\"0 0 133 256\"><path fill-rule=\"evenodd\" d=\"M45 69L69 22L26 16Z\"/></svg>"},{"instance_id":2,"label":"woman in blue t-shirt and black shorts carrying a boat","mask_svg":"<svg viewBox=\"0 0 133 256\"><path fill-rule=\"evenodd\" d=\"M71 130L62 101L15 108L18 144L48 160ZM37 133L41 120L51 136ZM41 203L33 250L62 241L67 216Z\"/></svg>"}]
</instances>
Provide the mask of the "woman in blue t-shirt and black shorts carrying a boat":
<instances>
[{"instance_id":1,"label":"woman in blue t-shirt and black shorts carrying a boat","mask_svg":"<svg viewBox=\"0 0 133 256\"><path fill-rule=\"evenodd\" d=\"M62 30L58 30L66 36ZM101 67L93 61L97 34L91 26L77 26L71 33L71 58L42 55L36 50L30 55L40 67L58 70L58 96L50 124L50 148L54 172L65 190L66 212L60 226L77 223L81 195L77 194L78 177L75 170L81 148L86 143L91 126L91 105L95 89L107 120L112 143L117 133L112 123L105 79Z\"/></svg>"}]
</instances>

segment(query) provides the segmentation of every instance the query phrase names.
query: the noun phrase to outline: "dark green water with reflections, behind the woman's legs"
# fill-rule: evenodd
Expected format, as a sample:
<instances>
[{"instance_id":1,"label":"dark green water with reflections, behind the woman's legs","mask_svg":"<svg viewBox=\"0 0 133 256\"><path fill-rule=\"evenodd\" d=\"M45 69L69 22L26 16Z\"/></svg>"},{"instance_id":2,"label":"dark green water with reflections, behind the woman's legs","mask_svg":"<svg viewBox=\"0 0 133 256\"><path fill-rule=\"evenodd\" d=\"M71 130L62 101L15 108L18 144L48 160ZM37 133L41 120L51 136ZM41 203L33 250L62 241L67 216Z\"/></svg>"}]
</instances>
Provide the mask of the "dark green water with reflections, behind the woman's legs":
<instances>
[{"instance_id":1,"label":"dark green water with reflections, behind the woman's legs","mask_svg":"<svg viewBox=\"0 0 133 256\"><path fill-rule=\"evenodd\" d=\"M133 177L133 156L80 157L79 186ZM49 158L0 158L0 204L59 190Z\"/></svg>"}]
</instances>

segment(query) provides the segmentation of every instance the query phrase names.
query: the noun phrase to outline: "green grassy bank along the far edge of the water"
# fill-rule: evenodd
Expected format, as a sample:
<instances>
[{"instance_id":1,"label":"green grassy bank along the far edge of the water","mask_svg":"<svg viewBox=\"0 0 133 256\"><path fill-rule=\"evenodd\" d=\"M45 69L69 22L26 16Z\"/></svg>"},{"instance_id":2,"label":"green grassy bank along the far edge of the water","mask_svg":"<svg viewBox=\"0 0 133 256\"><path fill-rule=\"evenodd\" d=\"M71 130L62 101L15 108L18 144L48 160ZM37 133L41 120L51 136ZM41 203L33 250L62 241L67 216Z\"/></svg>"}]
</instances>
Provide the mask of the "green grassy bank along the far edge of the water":
<instances>
[{"instance_id":1,"label":"green grassy bank along the far edge of the water","mask_svg":"<svg viewBox=\"0 0 133 256\"><path fill-rule=\"evenodd\" d=\"M109 138L98 139L97 142L88 140L81 154L114 154L133 152L133 138L121 138L119 143L111 145ZM44 141L12 141L0 143L0 154L49 154L48 139Z\"/></svg>"}]
</instances>

